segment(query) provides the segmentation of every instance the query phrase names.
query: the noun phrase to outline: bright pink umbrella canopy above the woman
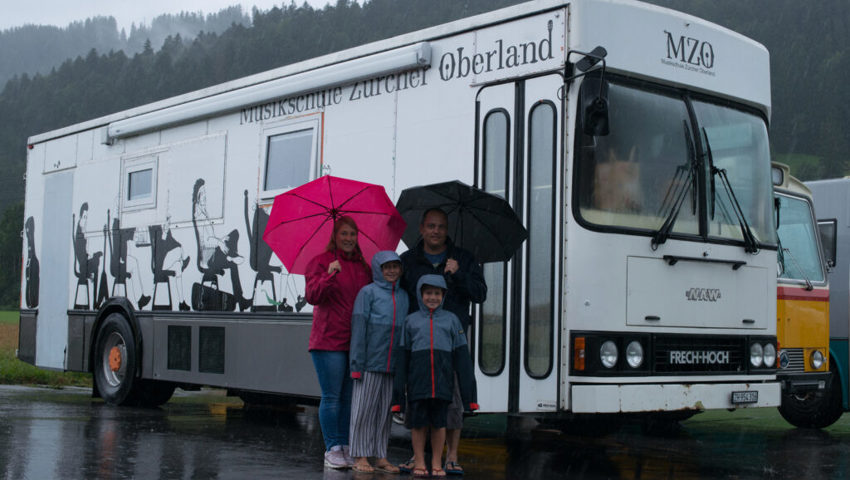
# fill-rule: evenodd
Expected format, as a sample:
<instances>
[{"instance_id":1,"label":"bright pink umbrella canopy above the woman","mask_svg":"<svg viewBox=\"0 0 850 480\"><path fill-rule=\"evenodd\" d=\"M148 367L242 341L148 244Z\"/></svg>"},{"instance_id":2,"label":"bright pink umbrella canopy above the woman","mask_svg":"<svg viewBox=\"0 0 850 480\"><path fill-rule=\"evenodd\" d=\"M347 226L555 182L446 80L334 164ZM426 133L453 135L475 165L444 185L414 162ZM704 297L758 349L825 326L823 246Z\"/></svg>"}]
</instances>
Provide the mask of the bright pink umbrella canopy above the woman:
<instances>
[{"instance_id":1,"label":"bright pink umbrella canopy above the woman","mask_svg":"<svg viewBox=\"0 0 850 480\"><path fill-rule=\"evenodd\" d=\"M325 175L275 197L263 240L290 273L325 251L337 218L357 223L367 263L380 250L395 250L405 223L384 187Z\"/></svg>"}]
</instances>

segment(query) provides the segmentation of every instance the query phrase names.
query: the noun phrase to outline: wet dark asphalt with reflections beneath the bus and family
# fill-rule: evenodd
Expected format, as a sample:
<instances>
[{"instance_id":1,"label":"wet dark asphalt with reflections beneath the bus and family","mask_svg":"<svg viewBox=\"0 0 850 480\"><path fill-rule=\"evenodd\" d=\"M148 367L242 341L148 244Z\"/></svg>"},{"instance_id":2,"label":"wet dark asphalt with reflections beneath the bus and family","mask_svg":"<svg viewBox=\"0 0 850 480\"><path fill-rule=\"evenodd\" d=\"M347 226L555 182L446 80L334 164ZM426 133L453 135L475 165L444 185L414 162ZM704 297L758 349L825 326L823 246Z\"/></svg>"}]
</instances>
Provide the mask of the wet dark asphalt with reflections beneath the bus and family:
<instances>
[{"instance_id":1,"label":"wet dark asphalt with reflections beneath the bus and family","mask_svg":"<svg viewBox=\"0 0 850 480\"><path fill-rule=\"evenodd\" d=\"M480 415L461 444L466 479L846 478L850 416L824 431L775 409L708 412L678 428L604 419L541 425ZM322 467L316 410L246 408L218 391L160 409L113 408L87 390L0 386L0 476L49 478L394 478ZM393 426L389 457L410 455ZM407 478L407 477L403 477Z\"/></svg>"}]
</instances>

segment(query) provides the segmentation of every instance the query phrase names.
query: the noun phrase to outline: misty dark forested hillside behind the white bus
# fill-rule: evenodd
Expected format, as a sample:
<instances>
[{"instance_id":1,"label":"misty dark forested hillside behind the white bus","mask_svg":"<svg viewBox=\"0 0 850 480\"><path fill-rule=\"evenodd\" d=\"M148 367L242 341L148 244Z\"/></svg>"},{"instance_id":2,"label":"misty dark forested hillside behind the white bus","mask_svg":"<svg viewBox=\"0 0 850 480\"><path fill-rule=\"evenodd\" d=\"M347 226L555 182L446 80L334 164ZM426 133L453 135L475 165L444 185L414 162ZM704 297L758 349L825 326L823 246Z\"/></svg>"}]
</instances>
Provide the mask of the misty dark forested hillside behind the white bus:
<instances>
[{"instance_id":1,"label":"misty dark forested hillside behind the white bus","mask_svg":"<svg viewBox=\"0 0 850 480\"><path fill-rule=\"evenodd\" d=\"M794 173L804 179L847 172L850 136L844 129L850 120L850 88L845 80L850 78L850 2L652 1L763 43L771 52L775 157L791 163ZM4 171L0 211L9 208L0 224L0 304L15 304L18 298L22 225L18 204L23 197L27 137L516 3L519 0L337 0L321 10L289 3L254 12L250 23L238 20L243 16L237 8L216 19L233 24L230 28L218 30L222 26L218 22L216 28L204 27L208 33L192 38L170 30L181 23L175 19L170 26L164 21L162 28L129 35L118 32L114 20L104 18L67 29L23 27L0 33L0 63L5 61L3 52L14 52L11 42L29 35L33 37L24 43L43 45L45 52L21 57L68 57L57 61L59 66L49 73L34 75L22 73L32 68L23 64L0 66L2 74L16 75L0 86L0 166ZM182 24L191 23L188 20ZM148 37L150 41L142 40ZM126 46L116 48L115 42L126 42ZM76 50L65 53L65 43ZM138 45L141 48L135 50Z\"/></svg>"}]
</instances>

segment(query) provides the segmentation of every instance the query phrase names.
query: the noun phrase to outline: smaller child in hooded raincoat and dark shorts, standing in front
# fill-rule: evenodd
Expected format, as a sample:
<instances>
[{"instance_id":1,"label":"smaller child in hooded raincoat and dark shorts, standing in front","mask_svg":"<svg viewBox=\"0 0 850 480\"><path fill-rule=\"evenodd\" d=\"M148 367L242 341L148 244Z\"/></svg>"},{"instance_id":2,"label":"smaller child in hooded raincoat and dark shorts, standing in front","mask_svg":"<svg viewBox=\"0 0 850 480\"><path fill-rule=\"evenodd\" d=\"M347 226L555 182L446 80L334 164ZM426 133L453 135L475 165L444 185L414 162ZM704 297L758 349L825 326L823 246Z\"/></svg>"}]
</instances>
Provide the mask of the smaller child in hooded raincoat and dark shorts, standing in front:
<instances>
[{"instance_id":1,"label":"smaller child in hooded raincoat and dark shorts, standing in front","mask_svg":"<svg viewBox=\"0 0 850 480\"><path fill-rule=\"evenodd\" d=\"M457 316L442 308L446 280L442 275L423 275L416 285L419 310L404 320L396 353L393 411L401 411L411 426L413 475L428 475L425 440L431 429L431 475L445 476L442 466L446 438L446 414L454 394L457 373L464 410L477 410L475 375L466 335Z\"/></svg>"}]
</instances>

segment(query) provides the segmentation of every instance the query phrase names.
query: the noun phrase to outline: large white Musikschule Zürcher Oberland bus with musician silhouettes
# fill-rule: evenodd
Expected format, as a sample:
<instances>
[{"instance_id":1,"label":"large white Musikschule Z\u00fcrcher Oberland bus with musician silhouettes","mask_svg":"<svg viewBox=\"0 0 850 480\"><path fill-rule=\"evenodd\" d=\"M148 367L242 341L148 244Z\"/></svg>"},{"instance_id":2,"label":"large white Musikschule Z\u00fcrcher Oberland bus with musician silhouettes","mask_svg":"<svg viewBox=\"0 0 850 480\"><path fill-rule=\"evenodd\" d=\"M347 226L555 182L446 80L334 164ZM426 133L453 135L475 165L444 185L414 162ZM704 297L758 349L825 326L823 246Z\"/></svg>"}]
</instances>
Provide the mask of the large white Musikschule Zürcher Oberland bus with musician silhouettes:
<instances>
[{"instance_id":1,"label":"large white Musikschule Z\u00fcrcher Oberland bus with musician silhouettes","mask_svg":"<svg viewBox=\"0 0 850 480\"><path fill-rule=\"evenodd\" d=\"M458 179L530 232L485 265L482 411L778 406L769 117L758 43L538 0L36 135L19 358L116 404L315 398L272 199L326 173L393 199Z\"/></svg>"}]
</instances>

